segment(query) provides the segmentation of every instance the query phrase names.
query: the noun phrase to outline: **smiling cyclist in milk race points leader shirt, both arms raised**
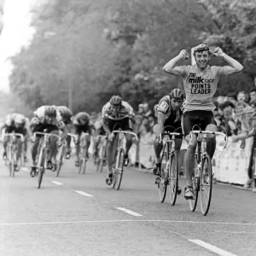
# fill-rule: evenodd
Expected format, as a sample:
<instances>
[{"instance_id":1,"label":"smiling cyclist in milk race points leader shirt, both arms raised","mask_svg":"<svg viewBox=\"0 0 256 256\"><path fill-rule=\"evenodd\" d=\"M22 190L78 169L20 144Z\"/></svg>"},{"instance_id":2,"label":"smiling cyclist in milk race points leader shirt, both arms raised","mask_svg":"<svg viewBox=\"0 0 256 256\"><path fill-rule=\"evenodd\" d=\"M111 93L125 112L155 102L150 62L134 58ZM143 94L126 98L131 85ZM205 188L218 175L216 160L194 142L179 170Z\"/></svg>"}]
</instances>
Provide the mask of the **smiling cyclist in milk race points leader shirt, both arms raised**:
<instances>
[{"instance_id":1,"label":"smiling cyclist in milk race points leader shirt, both arms raised","mask_svg":"<svg viewBox=\"0 0 256 256\"><path fill-rule=\"evenodd\" d=\"M224 54L219 47L213 50L212 55L222 58L227 65L224 67L209 66L210 49L207 44L199 44L194 49L195 65L176 66L178 61L189 58L189 54L183 49L176 57L167 62L164 67L166 73L183 78L183 86L186 93L183 112L183 133L187 143L189 143L189 132L192 131L194 125L200 126L201 130L217 131L212 113L215 108L212 97L216 92L218 81L221 76L228 76L243 69L238 61ZM207 142L207 151L211 158L215 147L216 141L213 136ZM195 148L196 136L194 135L185 154L185 199L193 199L192 172L195 165Z\"/></svg>"}]
</instances>

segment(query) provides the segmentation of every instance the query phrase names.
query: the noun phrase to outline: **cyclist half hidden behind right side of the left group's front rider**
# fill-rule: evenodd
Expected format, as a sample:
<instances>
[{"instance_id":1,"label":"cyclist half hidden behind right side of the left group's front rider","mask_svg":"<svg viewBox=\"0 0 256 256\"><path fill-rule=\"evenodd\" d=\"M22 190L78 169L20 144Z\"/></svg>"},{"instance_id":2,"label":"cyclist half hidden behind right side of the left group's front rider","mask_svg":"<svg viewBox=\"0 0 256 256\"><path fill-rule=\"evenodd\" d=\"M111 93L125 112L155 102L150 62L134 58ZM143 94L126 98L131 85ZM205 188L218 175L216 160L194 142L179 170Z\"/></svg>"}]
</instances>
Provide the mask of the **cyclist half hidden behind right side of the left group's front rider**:
<instances>
[{"instance_id":1,"label":"cyclist half hidden behind right side of the left group's front rider","mask_svg":"<svg viewBox=\"0 0 256 256\"><path fill-rule=\"evenodd\" d=\"M67 127L67 132L71 132L72 126L73 126L72 120L71 120L73 117L72 111L69 108L67 108L66 106L58 106L57 109L61 113L61 119ZM69 159L70 152L71 152L71 149L70 149L71 137L67 136L66 140L67 140L66 159Z\"/></svg>"}]
</instances>

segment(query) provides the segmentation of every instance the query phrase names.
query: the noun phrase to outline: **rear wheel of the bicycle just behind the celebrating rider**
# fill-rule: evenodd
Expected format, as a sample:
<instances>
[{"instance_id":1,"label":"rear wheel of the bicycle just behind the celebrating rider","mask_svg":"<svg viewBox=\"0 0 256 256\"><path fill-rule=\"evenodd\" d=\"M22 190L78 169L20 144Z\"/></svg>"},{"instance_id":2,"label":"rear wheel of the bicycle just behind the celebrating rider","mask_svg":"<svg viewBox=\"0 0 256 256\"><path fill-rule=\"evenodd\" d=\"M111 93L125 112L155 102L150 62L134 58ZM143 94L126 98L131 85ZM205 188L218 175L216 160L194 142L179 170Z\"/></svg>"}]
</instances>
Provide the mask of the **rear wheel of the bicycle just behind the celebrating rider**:
<instances>
[{"instance_id":1,"label":"rear wheel of the bicycle just behind the celebrating rider","mask_svg":"<svg viewBox=\"0 0 256 256\"><path fill-rule=\"evenodd\" d=\"M163 203L166 200L166 191L167 191L167 183L165 182L165 171L168 162L168 153L166 152L166 144L163 148L163 153L161 155L161 178L160 183L158 184L158 192L160 202Z\"/></svg>"}]
</instances>

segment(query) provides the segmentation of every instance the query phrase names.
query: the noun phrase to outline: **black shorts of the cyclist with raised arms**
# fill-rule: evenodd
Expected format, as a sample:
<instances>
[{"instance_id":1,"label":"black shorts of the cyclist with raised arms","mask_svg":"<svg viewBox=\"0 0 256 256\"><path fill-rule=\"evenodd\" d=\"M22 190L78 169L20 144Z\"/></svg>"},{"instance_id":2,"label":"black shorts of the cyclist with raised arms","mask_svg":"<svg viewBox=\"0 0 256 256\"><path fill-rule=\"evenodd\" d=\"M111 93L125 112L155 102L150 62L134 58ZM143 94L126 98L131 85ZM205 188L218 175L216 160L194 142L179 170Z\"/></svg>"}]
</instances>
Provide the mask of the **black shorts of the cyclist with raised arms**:
<instances>
[{"instance_id":1,"label":"black shorts of the cyclist with raised arms","mask_svg":"<svg viewBox=\"0 0 256 256\"><path fill-rule=\"evenodd\" d=\"M217 125L213 118L212 111L195 110L183 113L183 131L184 136L187 136L192 131L194 125L199 125L202 131L205 131L207 125ZM195 126L194 130L198 130L198 126Z\"/></svg>"}]
</instances>

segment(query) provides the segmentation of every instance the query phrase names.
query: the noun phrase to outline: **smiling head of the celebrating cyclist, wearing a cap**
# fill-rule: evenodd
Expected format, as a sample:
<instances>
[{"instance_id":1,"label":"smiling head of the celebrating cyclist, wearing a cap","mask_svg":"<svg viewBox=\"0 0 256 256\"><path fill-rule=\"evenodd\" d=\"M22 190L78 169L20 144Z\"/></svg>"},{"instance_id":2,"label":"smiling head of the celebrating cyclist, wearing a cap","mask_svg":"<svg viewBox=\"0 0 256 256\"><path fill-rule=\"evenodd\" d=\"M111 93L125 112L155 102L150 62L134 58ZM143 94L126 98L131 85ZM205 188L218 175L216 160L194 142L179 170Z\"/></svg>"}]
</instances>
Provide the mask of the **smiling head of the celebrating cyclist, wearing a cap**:
<instances>
[{"instance_id":1,"label":"smiling head of the celebrating cyclist, wearing a cap","mask_svg":"<svg viewBox=\"0 0 256 256\"><path fill-rule=\"evenodd\" d=\"M195 56L195 62L198 67L207 67L211 55L209 46L207 44L199 44L195 46L193 55Z\"/></svg>"}]
</instances>

